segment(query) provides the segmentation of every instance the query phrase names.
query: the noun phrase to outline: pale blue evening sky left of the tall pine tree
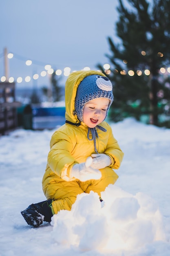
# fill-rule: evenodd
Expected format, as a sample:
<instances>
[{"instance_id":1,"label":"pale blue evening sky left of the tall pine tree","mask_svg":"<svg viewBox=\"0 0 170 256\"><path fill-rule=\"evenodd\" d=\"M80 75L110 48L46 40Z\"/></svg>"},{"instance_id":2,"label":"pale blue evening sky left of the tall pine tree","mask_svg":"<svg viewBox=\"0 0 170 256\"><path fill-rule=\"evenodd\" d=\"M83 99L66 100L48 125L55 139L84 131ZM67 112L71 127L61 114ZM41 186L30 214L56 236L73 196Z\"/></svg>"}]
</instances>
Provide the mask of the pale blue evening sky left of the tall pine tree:
<instances>
[{"instance_id":1,"label":"pale blue evening sky left of the tall pine tree","mask_svg":"<svg viewBox=\"0 0 170 256\"><path fill-rule=\"evenodd\" d=\"M40 73L45 65L71 72L108 63L107 37L116 40L118 0L5 0L0 1L0 78L4 76L4 49L9 77L22 77L20 88L48 85L49 76ZM32 61L27 66L25 62ZM38 74L37 80L33 74ZM31 77L25 82L26 76ZM62 75L63 82L66 80ZM65 79L65 80L64 80Z\"/></svg>"}]
</instances>

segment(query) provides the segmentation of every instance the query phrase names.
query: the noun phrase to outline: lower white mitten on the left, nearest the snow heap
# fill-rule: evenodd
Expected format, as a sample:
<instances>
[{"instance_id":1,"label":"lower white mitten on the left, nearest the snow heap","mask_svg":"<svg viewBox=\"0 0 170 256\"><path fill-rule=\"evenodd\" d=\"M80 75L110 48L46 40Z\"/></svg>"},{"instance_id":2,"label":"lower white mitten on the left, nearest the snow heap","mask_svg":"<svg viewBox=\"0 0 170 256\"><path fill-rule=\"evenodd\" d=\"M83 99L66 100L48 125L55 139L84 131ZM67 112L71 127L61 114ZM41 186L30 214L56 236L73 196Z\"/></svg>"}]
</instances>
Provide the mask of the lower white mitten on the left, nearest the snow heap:
<instances>
[{"instance_id":1,"label":"lower white mitten on the left, nearest the snow heap","mask_svg":"<svg viewBox=\"0 0 170 256\"><path fill-rule=\"evenodd\" d=\"M102 173L99 170L93 169L90 165L92 158L88 157L85 163L75 164L71 169L71 176L80 181L99 180Z\"/></svg>"}]
</instances>

